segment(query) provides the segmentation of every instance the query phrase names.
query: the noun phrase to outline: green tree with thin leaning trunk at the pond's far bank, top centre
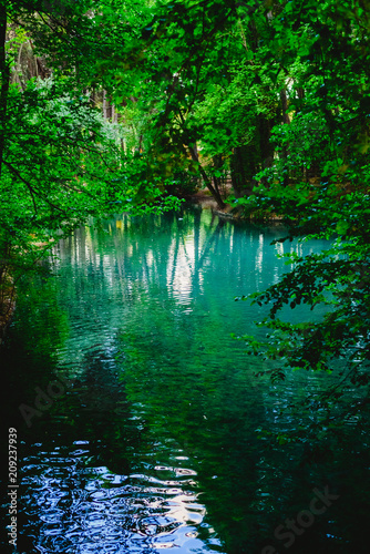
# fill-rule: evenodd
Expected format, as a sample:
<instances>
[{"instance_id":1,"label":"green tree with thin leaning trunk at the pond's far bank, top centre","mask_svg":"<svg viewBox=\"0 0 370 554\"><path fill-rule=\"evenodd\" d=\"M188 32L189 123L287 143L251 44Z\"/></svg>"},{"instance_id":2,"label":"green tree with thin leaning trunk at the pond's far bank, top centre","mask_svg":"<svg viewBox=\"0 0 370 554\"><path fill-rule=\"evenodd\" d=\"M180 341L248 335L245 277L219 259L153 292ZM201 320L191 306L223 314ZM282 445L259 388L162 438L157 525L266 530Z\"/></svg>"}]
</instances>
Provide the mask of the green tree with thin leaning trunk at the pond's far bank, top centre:
<instances>
[{"instance_id":1,"label":"green tree with thin leaning trunk at the pond's far bank, top centre","mask_svg":"<svg viewBox=\"0 0 370 554\"><path fill-rule=\"evenodd\" d=\"M158 174L186 171L199 175L219 207L224 207L217 181L219 161L230 141L224 144L217 138L220 125L207 125L204 114L195 114L215 89L219 98L219 83L224 92L232 74L228 64L244 49L240 40L234 47L229 32L235 18L234 2L157 2L146 25L113 62L117 94L126 91L126 98L137 96L136 110L145 114L141 148L150 165ZM134 94L127 86L132 82ZM201 148L217 142L209 164Z\"/></svg>"}]
</instances>

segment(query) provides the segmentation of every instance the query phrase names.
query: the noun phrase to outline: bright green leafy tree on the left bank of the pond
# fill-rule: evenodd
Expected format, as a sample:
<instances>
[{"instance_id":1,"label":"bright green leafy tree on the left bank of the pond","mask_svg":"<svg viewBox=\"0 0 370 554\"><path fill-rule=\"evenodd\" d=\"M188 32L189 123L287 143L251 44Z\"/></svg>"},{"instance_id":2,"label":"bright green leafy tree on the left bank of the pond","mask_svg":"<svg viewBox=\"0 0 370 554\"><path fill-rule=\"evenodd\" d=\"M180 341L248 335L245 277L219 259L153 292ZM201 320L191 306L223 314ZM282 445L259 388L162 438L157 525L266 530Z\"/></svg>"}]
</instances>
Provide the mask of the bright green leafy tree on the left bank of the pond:
<instances>
[{"instance_id":1,"label":"bright green leafy tree on the left bank of the pond","mask_svg":"<svg viewBox=\"0 0 370 554\"><path fill-rule=\"evenodd\" d=\"M105 122L91 101L89 88L99 72L96 64L89 68L93 53L88 59L84 54L92 42L100 44L103 34L99 4L90 0L2 0L1 4L2 316L11 307L17 280L39 267L54 240L89 217L117 209L154 211L161 204L168 209L175 204L172 198L162 203L163 184L144 178L141 161L127 158L121 150L120 129ZM113 34L121 28L116 18ZM20 52L30 40L53 76L28 80L19 74Z\"/></svg>"}]
</instances>

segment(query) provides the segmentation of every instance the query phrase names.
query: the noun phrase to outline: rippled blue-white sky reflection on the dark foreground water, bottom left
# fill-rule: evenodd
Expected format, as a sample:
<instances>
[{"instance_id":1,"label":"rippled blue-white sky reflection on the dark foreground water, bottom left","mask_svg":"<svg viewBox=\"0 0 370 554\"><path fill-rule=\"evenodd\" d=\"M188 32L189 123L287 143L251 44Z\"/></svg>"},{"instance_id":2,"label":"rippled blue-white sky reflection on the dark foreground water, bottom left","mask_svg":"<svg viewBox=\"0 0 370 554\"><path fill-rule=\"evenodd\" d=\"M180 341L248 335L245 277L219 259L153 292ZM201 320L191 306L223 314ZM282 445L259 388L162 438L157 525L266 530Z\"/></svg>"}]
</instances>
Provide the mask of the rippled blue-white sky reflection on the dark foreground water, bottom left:
<instances>
[{"instance_id":1,"label":"rippled blue-white sky reflection on the dark foreground water, bottom left","mask_svg":"<svg viewBox=\"0 0 370 554\"><path fill-rule=\"evenodd\" d=\"M55 447L34 444L23 460L25 516L39 520L39 552L148 552L182 547L197 552L205 507L186 456L173 466L117 474L91 464L88 441ZM42 462L40 461L42 456ZM37 502L34 502L37 500ZM205 527L207 527L205 525Z\"/></svg>"}]
</instances>

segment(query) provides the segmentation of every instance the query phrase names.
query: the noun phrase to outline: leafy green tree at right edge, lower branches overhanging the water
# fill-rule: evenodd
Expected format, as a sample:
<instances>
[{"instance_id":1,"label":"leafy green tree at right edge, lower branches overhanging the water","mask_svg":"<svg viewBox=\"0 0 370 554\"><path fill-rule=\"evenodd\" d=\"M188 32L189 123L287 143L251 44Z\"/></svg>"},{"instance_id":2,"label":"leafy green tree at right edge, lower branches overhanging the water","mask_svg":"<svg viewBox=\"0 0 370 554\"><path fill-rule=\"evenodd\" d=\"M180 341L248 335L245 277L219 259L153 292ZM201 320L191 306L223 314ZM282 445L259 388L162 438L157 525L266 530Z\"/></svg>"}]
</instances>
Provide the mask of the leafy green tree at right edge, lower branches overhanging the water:
<instances>
[{"instance_id":1,"label":"leafy green tree at right edge, lower branches overhanging the water","mask_svg":"<svg viewBox=\"0 0 370 554\"><path fill-rule=\"evenodd\" d=\"M281 360L274 379L297 368L336 371L342 380L319 403L342 402L346 417L357 414L359 421L366 417L370 382L370 50L363 10L361 2L327 1L315 4L314 18L314 3L284 6L276 22L276 60L286 68L299 57L304 65L296 91L305 81L305 96L291 91L291 123L273 130L280 151L289 154L257 176L265 185L238 201L250 212L284 217L288 232L280 242L297 236L330 240L320 254L289 255L291 270L253 295L254 302L269 306L260 324L269 335L265 342L244 337L249 351ZM318 172L315 179L310 166ZM326 314L292 325L281 310L297 305L322 306ZM321 424L327 423L325 418Z\"/></svg>"}]
</instances>

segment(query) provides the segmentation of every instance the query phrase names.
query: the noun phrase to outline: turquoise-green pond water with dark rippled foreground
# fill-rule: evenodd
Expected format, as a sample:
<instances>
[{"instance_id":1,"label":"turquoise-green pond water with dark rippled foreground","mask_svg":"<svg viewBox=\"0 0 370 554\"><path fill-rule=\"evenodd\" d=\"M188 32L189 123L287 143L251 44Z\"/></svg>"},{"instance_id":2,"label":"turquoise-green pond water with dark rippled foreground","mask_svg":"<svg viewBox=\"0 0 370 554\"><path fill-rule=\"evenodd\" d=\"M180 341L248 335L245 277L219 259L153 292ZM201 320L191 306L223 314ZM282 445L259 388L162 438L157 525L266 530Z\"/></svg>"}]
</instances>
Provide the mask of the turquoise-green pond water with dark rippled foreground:
<instances>
[{"instance_id":1,"label":"turquoise-green pond water with dark rippled foreground","mask_svg":"<svg viewBox=\"0 0 370 554\"><path fill-rule=\"evenodd\" d=\"M266 310L235 297L288 269L276 254L326 246L279 236L197 207L122 216L23 285L2 355L19 552L368 552L367 430L305 431L338 378L271 384L230 337L266 335Z\"/></svg>"}]
</instances>

